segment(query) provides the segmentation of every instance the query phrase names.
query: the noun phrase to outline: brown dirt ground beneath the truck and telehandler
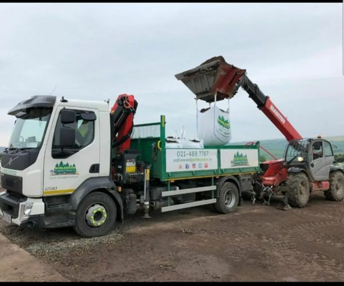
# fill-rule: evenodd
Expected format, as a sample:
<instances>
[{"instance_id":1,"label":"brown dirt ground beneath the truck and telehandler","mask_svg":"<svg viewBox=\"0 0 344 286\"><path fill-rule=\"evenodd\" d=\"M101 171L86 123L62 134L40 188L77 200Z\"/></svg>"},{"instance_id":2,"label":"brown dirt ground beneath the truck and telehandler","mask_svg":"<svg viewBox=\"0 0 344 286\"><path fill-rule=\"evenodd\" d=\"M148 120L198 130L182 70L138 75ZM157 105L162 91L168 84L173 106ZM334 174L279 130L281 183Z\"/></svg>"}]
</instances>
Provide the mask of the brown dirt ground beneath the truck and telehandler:
<instances>
[{"instance_id":1,"label":"brown dirt ground beneath the truck and telehandler","mask_svg":"<svg viewBox=\"0 0 344 286\"><path fill-rule=\"evenodd\" d=\"M276 206L276 205L274 205ZM112 234L80 239L1 222L0 232L72 281L343 281L344 202L313 195L303 209L245 202L127 217Z\"/></svg>"}]
</instances>

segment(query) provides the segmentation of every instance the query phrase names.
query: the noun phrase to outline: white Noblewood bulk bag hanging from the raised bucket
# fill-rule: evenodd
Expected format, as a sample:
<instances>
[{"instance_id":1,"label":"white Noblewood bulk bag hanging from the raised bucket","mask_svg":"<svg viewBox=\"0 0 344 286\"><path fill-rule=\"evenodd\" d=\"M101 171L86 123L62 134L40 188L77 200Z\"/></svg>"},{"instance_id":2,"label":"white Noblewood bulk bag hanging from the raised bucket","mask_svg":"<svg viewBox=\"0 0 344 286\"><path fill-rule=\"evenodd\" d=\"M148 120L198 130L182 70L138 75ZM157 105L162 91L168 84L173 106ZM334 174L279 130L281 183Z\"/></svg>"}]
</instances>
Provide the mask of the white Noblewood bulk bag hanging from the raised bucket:
<instances>
[{"instance_id":1,"label":"white Noblewood bulk bag hanging from the raised bucket","mask_svg":"<svg viewBox=\"0 0 344 286\"><path fill-rule=\"evenodd\" d=\"M197 102L197 101L196 101ZM208 109L197 108L197 134L204 146L223 146L232 139L229 108L223 111L214 105Z\"/></svg>"}]
</instances>

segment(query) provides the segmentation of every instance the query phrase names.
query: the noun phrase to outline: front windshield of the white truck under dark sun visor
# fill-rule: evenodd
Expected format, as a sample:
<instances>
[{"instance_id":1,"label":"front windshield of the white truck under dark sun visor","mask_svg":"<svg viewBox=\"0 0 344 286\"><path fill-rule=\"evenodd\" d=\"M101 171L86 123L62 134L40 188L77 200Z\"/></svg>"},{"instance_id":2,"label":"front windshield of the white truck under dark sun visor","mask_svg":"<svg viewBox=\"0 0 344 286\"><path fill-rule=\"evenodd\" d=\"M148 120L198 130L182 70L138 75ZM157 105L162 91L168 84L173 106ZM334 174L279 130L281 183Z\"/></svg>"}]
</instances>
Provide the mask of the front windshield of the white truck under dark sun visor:
<instances>
[{"instance_id":1,"label":"front windshield of the white truck under dark sun visor","mask_svg":"<svg viewBox=\"0 0 344 286\"><path fill-rule=\"evenodd\" d=\"M38 148L41 146L52 109L33 108L15 121L10 148Z\"/></svg>"}]
</instances>

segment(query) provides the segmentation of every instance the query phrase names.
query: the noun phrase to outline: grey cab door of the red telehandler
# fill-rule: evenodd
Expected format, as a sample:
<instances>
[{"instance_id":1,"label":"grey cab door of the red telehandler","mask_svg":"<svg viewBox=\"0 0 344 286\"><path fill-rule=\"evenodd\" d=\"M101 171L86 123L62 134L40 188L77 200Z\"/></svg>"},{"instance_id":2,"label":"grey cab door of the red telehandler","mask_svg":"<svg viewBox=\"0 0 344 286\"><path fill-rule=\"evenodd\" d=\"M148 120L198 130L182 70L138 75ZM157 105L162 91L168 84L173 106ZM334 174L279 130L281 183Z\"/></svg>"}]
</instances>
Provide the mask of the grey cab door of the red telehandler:
<instances>
[{"instance_id":1,"label":"grey cab door of the red telehandler","mask_svg":"<svg viewBox=\"0 0 344 286\"><path fill-rule=\"evenodd\" d=\"M329 180L330 167L334 161L331 156L325 155L324 143L326 141L314 141L311 146L310 156L310 173L314 181ZM328 143L328 142L327 142ZM329 143L330 144L330 143ZM332 151L332 150L331 150Z\"/></svg>"}]
</instances>

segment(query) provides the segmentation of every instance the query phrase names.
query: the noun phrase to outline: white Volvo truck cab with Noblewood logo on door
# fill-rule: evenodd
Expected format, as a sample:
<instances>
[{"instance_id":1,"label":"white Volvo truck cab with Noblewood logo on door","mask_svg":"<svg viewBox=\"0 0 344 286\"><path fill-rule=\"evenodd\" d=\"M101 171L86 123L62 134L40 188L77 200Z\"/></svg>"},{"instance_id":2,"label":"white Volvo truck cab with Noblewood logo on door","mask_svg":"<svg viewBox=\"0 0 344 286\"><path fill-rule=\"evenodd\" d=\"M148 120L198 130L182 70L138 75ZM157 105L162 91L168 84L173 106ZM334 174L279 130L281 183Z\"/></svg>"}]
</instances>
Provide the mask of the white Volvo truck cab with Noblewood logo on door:
<instances>
[{"instance_id":1,"label":"white Volvo truck cab with Noblewood logo on door","mask_svg":"<svg viewBox=\"0 0 344 286\"><path fill-rule=\"evenodd\" d=\"M1 185L6 191L0 194L0 208L6 221L41 228L75 226L77 206L95 186L112 191L112 211L117 213L118 205L117 218L123 218L110 177L107 102L40 95L18 103L8 114L16 121L1 158ZM86 219L91 226L97 210L103 213L98 225L111 211L101 203L89 206ZM93 230L82 235L94 236Z\"/></svg>"}]
</instances>

